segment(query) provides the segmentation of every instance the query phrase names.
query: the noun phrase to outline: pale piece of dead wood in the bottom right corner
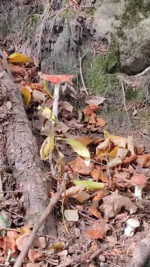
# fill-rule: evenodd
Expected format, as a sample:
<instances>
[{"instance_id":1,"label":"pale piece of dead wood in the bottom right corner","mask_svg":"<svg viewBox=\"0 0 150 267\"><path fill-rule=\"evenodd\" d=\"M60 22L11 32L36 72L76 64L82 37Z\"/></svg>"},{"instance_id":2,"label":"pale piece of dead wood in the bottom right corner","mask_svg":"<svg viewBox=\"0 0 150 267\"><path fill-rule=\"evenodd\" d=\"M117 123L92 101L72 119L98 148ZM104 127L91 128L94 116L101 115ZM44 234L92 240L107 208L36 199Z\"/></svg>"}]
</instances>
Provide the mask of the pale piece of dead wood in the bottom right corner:
<instances>
[{"instance_id":1,"label":"pale piece of dead wood in the bottom right corner","mask_svg":"<svg viewBox=\"0 0 150 267\"><path fill-rule=\"evenodd\" d=\"M150 259L150 239L143 239L139 242L132 255L132 260L126 267L146 267Z\"/></svg>"}]
</instances>

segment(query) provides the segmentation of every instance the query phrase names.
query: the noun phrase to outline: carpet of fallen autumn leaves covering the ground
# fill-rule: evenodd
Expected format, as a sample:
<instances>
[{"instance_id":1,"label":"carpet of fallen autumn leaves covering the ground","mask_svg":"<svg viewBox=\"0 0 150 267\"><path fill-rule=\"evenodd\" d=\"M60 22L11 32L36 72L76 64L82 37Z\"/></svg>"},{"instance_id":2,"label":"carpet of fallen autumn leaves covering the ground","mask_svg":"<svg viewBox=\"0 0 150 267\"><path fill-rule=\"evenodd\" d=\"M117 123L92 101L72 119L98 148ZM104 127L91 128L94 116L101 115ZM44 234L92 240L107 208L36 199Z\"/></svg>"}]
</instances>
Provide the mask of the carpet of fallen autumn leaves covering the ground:
<instances>
[{"instance_id":1,"label":"carpet of fallen autumn leaves covering the ground","mask_svg":"<svg viewBox=\"0 0 150 267\"><path fill-rule=\"evenodd\" d=\"M23 67L25 62L27 67ZM104 242L108 245L103 252L104 261L114 262L116 254L128 258L130 252L122 245L127 242L125 221L137 216L140 226L146 223L139 211L142 204L148 202L143 198L141 204L135 197L137 185L132 183L135 174L142 174L149 180L150 155L145 152L144 145L135 146L132 136L116 136L104 129L107 120L96 113L106 100L102 96L86 99L88 106L83 110L75 110L74 105L60 100L56 123L52 113L53 90L45 80L49 76L41 74L43 81L30 83L36 68L31 58L19 53L8 57L8 63L22 91L27 112L34 106L32 120L36 131L46 136L41 144L41 159L55 162L59 174L54 177L48 173L47 179L53 181L50 197L55 195L57 181L62 183L62 174L67 175L64 193L54 211L58 238L50 240L50 237L36 236L24 266L57 266L74 258L75 254L86 253L87 249L91 256ZM62 92L67 89L72 99L77 98L74 87L65 83ZM5 182L3 187L6 188ZM6 214L0 217L2 264L8 254L10 261L17 259L31 233L30 226L25 225L21 207L18 193L1 202L1 209L7 210L9 217L7 219ZM145 226L145 230L149 232L149 227ZM141 236L140 228L128 245L132 245L132 240L136 242L138 235ZM93 266L100 266L99 259L93 259ZM86 266L87 261L83 262L81 266Z\"/></svg>"}]
</instances>

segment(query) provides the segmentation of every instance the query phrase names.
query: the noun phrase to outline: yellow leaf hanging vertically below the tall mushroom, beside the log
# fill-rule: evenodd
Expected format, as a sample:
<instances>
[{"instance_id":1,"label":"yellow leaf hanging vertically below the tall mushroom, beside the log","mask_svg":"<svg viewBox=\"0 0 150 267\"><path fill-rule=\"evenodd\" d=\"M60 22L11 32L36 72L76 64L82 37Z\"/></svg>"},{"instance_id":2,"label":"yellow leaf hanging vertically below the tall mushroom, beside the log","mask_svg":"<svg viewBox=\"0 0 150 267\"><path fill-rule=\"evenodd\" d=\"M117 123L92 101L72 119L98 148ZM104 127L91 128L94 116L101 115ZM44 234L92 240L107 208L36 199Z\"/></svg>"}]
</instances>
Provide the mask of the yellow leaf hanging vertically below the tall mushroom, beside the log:
<instances>
[{"instance_id":1,"label":"yellow leaf hanging vertically below the tall mushroom, beside the log","mask_svg":"<svg viewBox=\"0 0 150 267\"><path fill-rule=\"evenodd\" d=\"M46 140L43 142L43 145L41 146L40 155L41 159L48 159L49 155L53 152L54 149L54 138L55 138L55 130L54 127L52 127L50 136L46 138Z\"/></svg>"}]
</instances>

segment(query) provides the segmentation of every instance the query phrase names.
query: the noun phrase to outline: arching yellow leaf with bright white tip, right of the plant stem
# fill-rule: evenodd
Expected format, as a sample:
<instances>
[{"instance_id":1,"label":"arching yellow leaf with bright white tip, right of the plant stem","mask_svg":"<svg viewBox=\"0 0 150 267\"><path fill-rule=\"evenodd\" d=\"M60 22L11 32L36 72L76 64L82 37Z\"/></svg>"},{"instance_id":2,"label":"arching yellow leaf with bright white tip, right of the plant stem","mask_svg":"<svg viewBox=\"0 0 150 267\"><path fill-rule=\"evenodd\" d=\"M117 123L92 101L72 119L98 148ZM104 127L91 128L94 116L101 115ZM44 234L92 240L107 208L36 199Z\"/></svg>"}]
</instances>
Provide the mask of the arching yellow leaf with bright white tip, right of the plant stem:
<instances>
[{"instance_id":1,"label":"arching yellow leaf with bright white tip, right of the plant stem","mask_svg":"<svg viewBox=\"0 0 150 267\"><path fill-rule=\"evenodd\" d=\"M81 157L86 158L85 163L88 166L90 164L90 152L88 151L88 148L86 148L82 143L79 141L75 141L73 139L69 138L57 138L57 140L64 140L69 145L71 145L72 148L74 148L74 151Z\"/></svg>"}]
</instances>

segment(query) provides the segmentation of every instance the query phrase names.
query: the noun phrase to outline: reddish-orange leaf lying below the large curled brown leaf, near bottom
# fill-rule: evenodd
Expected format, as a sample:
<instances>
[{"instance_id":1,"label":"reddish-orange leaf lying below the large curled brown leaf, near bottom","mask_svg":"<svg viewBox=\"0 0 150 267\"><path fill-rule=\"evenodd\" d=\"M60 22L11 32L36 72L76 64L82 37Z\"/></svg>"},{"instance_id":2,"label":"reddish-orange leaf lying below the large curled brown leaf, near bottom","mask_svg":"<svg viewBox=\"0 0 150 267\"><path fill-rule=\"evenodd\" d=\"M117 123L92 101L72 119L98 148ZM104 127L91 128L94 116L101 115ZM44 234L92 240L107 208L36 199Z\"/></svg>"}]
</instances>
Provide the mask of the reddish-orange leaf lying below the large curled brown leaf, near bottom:
<instances>
[{"instance_id":1,"label":"reddish-orange leaf lying below the large curled brown leaf, near bottom","mask_svg":"<svg viewBox=\"0 0 150 267\"><path fill-rule=\"evenodd\" d=\"M107 223L104 223L104 221L95 221L95 223L93 223L93 226L86 232L86 234L90 238L103 239L107 233L107 230Z\"/></svg>"}]
</instances>

